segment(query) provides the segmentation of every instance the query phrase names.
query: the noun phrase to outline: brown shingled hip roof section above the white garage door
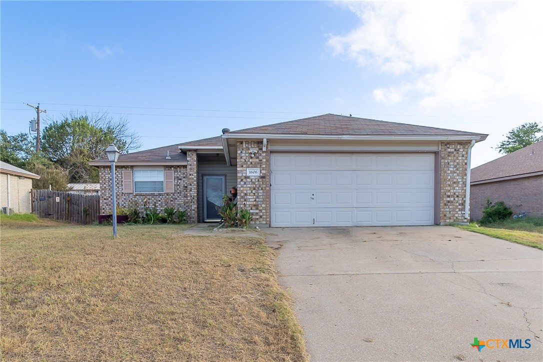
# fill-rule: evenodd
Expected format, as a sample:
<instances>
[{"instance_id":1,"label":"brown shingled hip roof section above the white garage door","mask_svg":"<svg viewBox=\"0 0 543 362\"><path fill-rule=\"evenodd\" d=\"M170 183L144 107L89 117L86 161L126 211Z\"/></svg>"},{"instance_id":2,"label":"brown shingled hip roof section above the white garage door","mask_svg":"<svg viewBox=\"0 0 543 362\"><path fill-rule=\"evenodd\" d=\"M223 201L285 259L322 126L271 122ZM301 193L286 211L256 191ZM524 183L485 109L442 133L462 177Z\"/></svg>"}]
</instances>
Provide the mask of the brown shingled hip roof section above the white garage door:
<instances>
[{"instance_id":1,"label":"brown shingled hip roof section above the white garage door","mask_svg":"<svg viewBox=\"0 0 543 362\"><path fill-rule=\"evenodd\" d=\"M371 136L481 136L474 132L413 124L386 122L384 120L327 115L291 120L265 126L228 132L230 134L298 134L298 135L371 135Z\"/></svg>"}]
</instances>

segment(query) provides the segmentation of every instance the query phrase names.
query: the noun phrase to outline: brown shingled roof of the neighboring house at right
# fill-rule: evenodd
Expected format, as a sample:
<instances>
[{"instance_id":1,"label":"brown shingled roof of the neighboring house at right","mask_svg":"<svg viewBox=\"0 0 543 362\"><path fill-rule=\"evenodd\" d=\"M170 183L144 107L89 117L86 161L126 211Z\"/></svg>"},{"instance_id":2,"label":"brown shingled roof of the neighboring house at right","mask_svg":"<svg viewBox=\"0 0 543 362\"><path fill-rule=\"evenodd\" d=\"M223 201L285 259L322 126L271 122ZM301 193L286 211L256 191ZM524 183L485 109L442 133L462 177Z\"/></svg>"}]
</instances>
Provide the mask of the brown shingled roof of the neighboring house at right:
<instances>
[{"instance_id":1,"label":"brown shingled roof of the neighboring house at right","mask_svg":"<svg viewBox=\"0 0 543 362\"><path fill-rule=\"evenodd\" d=\"M482 164L471 170L471 183L543 174L543 141ZM487 181L488 182L488 181Z\"/></svg>"}]
</instances>

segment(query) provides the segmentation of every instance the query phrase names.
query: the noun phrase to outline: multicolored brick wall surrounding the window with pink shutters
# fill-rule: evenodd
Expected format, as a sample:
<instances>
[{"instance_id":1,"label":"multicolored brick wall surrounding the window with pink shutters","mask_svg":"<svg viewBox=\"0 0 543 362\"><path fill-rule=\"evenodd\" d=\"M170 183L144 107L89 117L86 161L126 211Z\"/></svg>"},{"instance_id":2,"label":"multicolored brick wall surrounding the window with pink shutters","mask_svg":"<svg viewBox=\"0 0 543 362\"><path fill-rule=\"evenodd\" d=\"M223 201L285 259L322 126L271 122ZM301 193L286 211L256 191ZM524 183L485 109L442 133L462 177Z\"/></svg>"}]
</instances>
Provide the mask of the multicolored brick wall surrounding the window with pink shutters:
<instances>
[{"instance_id":1,"label":"multicolored brick wall surrounding the window with pink shutters","mask_svg":"<svg viewBox=\"0 0 543 362\"><path fill-rule=\"evenodd\" d=\"M187 211L187 221L189 211L187 209L187 167L173 166L165 167L165 170L174 171L174 192L173 193L125 193L123 192L123 171L132 170L132 166L115 167L115 188L116 201L119 207L134 208L137 207L143 212L144 206L156 207L161 213L165 207L174 207L175 209ZM100 212L102 214L111 214L111 168L100 167Z\"/></svg>"}]
</instances>

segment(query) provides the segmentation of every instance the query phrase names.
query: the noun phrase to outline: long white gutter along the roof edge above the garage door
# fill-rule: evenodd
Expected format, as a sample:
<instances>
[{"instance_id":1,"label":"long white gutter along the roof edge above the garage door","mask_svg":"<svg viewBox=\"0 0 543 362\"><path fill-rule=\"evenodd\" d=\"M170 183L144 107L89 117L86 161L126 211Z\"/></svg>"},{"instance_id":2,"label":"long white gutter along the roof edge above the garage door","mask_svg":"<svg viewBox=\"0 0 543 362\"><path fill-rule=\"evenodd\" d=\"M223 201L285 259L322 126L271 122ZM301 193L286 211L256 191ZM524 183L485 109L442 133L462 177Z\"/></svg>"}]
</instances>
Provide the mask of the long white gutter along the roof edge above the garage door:
<instances>
[{"instance_id":1,"label":"long white gutter along the roof edge above the garage door","mask_svg":"<svg viewBox=\"0 0 543 362\"><path fill-rule=\"evenodd\" d=\"M270 135L270 134L234 134L222 135L224 138L248 139L344 139L344 140L376 140L376 141L482 141L481 136L352 136L352 135Z\"/></svg>"}]
</instances>

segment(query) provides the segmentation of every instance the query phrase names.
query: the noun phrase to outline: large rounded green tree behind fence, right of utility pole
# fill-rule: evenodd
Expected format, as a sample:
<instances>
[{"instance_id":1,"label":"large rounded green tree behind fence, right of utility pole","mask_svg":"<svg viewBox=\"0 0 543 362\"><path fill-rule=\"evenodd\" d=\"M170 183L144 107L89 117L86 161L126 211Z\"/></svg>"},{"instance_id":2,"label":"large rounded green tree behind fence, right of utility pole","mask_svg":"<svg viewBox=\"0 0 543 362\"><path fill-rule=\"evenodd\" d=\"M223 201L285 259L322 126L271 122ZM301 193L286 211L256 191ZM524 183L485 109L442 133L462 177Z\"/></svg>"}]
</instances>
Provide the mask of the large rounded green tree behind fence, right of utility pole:
<instances>
[{"instance_id":1,"label":"large rounded green tree behind fence, right of utility pole","mask_svg":"<svg viewBox=\"0 0 543 362\"><path fill-rule=\"evenodd\" d=\"M107 113L72 113L49 122L41 137L42 152L68 172L70 182L98 182L98 170L89 161L105 157L111 143L122 153L141 147L140 137L129 129L125 117L115 120Z\"/></svg>"}]
</instances>

